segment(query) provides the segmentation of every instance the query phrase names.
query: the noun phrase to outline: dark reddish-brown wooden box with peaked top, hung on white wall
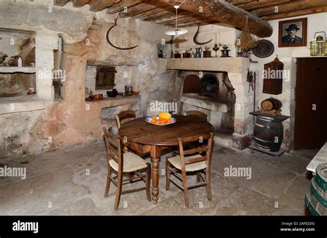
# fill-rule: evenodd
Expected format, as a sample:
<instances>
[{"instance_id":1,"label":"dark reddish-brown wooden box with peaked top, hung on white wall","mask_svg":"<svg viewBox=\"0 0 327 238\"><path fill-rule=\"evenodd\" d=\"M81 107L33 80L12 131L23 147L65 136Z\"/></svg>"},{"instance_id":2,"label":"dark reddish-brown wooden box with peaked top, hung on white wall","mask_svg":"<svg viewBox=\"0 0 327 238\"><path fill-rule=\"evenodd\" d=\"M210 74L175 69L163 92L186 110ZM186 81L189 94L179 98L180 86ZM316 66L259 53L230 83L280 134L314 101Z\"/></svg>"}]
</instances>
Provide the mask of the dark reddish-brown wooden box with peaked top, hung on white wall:
<instances>
[{"instance_id":1,"label":"dark reddish-brown wooden box with peaked top, hung on white wall","mask_svg":"<svg viewBox=\"0 0 327 238\"><path fill-rule=\"evenodd\" d=\"M281 94L283 91L284 64L276 57L264 65L264 94Z\"/></svg>"}]
</instances>

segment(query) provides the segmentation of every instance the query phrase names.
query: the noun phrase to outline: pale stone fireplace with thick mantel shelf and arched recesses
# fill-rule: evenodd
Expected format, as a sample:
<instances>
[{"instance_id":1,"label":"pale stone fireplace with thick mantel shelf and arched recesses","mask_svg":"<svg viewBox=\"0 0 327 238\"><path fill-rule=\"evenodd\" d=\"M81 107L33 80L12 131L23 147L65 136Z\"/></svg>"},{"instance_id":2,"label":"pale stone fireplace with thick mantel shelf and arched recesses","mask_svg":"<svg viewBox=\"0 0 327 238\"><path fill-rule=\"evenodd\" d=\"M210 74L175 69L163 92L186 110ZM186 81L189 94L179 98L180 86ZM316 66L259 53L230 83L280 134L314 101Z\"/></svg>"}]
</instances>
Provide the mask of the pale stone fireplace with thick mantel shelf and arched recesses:
<instances>
[{"instance_id":1,"label":"pale stone fireplace with thick mantel shelf and arched recesses","mask_svg":"<svg viewBox=\"0 0 327 238\"><path fill-rule=\"evenodd\" d=\"M249 67L249 59L241 57L169 58L166 65L167 69L182 71L187 76L190 74L202 76L198 89L195 86L197 85L195 76L192 76L192 80L190 80L193 83L192 87L184 87L187 90L182 91L181 94L182 110L196 109L207 113L208 121L215 127L216 132L232 128L230 137L226 139L216 133L215 141L226 139L228 142L225 144L226 146L239 150L248 147L253 131L252 116L249 112L253 111L254 94L253 91L248 92L248 83L246 82ZM219 74L224 72L227 73L230 83L235 88L235 98L232 102L223 99L224 93L221 94L221 89L226 89L226 87L217 80ZM204 78L205 76L206 78ZM184 77L185 79L186 77ZM230 111L233 112L232 116L231 113L228 114Z\"/></svg>"}]
</instances>

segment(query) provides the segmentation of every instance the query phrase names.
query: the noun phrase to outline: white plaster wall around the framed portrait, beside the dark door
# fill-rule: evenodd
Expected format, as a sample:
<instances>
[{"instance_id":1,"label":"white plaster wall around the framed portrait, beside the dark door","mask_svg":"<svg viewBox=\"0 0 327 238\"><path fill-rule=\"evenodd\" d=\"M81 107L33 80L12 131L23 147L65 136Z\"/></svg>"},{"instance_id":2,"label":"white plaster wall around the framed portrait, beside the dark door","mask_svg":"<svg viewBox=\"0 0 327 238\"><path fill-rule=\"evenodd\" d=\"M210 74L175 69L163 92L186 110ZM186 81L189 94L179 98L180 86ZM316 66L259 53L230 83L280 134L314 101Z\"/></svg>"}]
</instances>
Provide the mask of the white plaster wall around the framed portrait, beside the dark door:
<instances>
[{"instance_id":1,"label":"white plaster wall around the framed portrait, beside the dark door","mask_svg":"<svg viewBox=\"0 0 327 238\"><path fill-rule=\"evenodd\" d=\"M295 107L295 100L291 100L291 98L294 98L295 93L295 82L292 82L292 80L296 80L295 74L296 70L294 67L296 67L296 64L293 63L293 58L297 57L311 57L310 56L310 41L313 41L313 36L315 32L319 31L326 31L326 25L327 25L327 13L319 13L319 14L310 14L305 15L301 17L293 17L289 19L297 19L297 18L308 18L308 32L307 32L307 46L304 47L278 47L278 23L281 20L274 20L269 21L270 25L273 27L273 35L266 38L268 41L271 41L275 46L275 52L272 56L269 56L268 58L257 58L255 56L252 56L254 61L258 61L258 67L259 67L259 75L257 77L257 83L259 84L259 90L258 90L258 105L261 103L262 100L266 98L270 98L273 96L274 98L277 98L281 100L283 103L283 107L281 108L281 113L287 116L294 116L291 114L291 108ZM286 21L289 19L282 19L282 21ZM264 94L262 93L262 89L264 87L264 80L263 80L263 74L262 70L264 69L264 64L269 63L274 60L276 57L276 54L278 55L279 61L284 63L284 69L288 70L290 72L290 78L284 78L283 80L283 92L279 95L272 95L272 94ZM315 56L313 56L315 57ZM293 67L292 67L293 65ZM293 110L294 111L294 110ZM283 122L284 125L284 144L288 149L291 149L291 140L293 140L293 136L290 134L290 131L293 131L293 129L290 128L290 120L285 120Z\"/></svg>"}]
</instances>

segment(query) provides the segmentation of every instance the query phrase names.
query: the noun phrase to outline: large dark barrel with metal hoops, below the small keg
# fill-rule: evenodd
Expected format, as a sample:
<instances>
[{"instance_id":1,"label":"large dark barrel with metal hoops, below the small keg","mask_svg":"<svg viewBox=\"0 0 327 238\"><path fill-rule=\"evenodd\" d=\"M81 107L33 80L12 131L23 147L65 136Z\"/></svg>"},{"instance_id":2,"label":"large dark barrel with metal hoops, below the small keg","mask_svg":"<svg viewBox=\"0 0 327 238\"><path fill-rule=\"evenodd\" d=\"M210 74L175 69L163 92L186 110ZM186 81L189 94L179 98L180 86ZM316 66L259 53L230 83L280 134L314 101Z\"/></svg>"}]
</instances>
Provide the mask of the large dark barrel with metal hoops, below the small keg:
<instances>
[{"instance_id":1,"label":"large dark barrel with metal hoops, below the small keg","mask_svg":"<svg viewBox=\"0 0 327 238\"><path fill-rule=\"evenodd\" d=\"M254 136L258 147L272 152L279 151L284 136L283 122L266 116L257 116Z\"/></svg>"}]
</instances>

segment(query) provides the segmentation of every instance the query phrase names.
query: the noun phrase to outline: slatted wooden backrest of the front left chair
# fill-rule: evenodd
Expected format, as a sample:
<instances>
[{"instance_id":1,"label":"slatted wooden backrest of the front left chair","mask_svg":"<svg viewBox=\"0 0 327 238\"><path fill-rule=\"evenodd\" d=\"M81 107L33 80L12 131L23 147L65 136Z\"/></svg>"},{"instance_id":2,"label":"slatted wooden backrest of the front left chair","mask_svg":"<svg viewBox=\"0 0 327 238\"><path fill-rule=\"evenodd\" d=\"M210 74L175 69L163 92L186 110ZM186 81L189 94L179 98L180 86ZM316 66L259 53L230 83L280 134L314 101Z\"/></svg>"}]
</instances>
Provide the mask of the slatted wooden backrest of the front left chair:
<instances>
[{"instance_id":1,"label":"slatted wooden backrest of the front left chair","mask_svg":"<svg viewBox=\"0 0 327 238\"><path fill-rule=\"evenodd\" d=\"M103 137L106 142L107 157L109 160L115 160L119 166L123 163L122 143L119 138L109 133L106 127L103 127Z\"/></svg>"}]
</instances>

